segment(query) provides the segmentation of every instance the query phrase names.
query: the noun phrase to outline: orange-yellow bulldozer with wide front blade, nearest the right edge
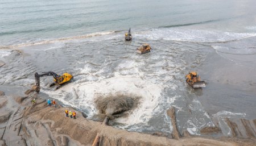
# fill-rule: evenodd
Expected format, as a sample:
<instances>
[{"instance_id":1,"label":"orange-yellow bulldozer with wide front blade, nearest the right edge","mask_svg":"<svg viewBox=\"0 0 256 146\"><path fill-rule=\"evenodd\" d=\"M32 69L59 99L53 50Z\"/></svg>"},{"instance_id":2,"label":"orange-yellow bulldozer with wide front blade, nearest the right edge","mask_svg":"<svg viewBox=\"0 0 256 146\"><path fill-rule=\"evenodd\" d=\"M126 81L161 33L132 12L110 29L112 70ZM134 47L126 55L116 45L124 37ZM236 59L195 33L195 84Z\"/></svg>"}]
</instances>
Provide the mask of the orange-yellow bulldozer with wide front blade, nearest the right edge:
<instances>
[{"instance_id":1,"label":"orange-yellow bulldozer with wide front blade, nearest the right edge","mask_svg":"<svg viewBox=\"0 0 256 146\"><path fill-rule=\"evenodd\" d=\"M189 72L185 77L187 83L193 88L205 87L205 82L201 81L200 76L196 72Z\"/></svg>"}]
</instances>

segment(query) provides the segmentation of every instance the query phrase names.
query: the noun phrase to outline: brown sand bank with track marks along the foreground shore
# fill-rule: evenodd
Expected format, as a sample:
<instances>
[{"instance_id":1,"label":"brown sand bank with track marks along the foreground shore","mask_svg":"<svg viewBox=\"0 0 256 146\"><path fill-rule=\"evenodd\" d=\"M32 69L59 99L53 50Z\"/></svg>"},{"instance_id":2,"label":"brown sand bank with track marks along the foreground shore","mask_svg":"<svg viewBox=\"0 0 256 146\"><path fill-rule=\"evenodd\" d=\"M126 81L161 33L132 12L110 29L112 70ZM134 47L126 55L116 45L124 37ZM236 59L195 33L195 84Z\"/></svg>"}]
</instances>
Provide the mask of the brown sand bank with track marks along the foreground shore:
<instances>
[{"instance_id":1,"label":"brown sand bank with track marks along the foreground shore","mask_svg":"<svg viewBox=\"0 0 256 146\"><path fill-rule=\"evenodd\" d=\"M36 98L36 105L31 100ZM251 137L221 137L210 139L205 137L180 137L174 132L175 139L169 137L128 132L105 126L101 122L88 120L77 112L77 119L65 117L67 107L48 107L39 95L30 93L27 97L6 97L0 95L0 145L92 145L97 134L100 135L99 145L255 145L255 131L250 130ZM175 109L168 110L172 124L175 124ZM247 120L242 123L247 125ZM255 122L255 121L254 121ZM234 123L231 123L233 124ZM250 125L251 126L251 125ZM236 126L235 126L236 127ZM254 123L255 128L255 123ZM208 132L210 128L205 129ZM218 128L212 128L218 131ZM234 128L233 131L236 131ZM239 133L239 132L238 132ZM179 139L179 140L176 140Z\"/></svg>"}]
</instances>

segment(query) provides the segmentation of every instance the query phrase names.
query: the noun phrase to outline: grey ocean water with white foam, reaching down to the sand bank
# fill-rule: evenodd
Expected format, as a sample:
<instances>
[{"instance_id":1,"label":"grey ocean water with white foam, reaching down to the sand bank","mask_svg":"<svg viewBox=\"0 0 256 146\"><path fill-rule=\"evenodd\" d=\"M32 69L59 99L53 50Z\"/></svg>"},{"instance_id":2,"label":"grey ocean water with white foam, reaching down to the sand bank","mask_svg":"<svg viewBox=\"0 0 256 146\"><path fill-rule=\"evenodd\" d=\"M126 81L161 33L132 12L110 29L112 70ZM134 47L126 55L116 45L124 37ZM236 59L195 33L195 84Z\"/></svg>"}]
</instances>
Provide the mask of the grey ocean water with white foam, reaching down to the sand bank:
<instances>
[{"instance_id":1,"label":"grey ocean water with white foam, reaching down to the sand bank","mask_svg":"<svg viewBox=\"0 0 256 146\"><path fill-rule=\"evenodd\" d=\"M129 131L170 134L171 106L179 131L192 135L213 126L212 116L256 118L255 5L253 0L2 0L0 60L6 65L0 68L0 87L25 89L34 84L35 72L72 73L74 81L59 90L49 87L51 77L42 78L41 93L88 118L98 112L97 97L139 97L137 109L114 120L114 127ZM125 42L129 28L133 41ZM135 49L143 43L152 52L138 55ZM189 70L207 80L205 89L185 84ZM243 74L240 84L223 78L232 76L229 70Z\"/></svg>"}]
</instances>

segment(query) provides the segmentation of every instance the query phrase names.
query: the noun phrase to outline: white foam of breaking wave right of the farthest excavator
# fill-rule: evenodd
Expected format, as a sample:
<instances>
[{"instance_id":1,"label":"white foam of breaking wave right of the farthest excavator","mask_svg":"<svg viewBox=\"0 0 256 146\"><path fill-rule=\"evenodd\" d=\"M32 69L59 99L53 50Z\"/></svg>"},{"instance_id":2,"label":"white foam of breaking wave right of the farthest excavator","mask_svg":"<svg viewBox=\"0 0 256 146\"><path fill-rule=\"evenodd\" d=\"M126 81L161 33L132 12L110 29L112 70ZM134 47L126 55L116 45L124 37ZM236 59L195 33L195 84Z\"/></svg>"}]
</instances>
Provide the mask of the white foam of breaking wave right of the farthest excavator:
<instances>
[{"instance_id":1,"label":"white foam of breaking wave right of the farthest excavator","mask_svg":"<svg viewBox=\"0 0 256 146\"><path fill-rule=\"evenodd\" d=\"M188 28L158 28L134 34L139 39L191 41L197 43L215 43L246 39L256 33L236 33L208 30L192 30Z\"/></svg>"}]
</instances>

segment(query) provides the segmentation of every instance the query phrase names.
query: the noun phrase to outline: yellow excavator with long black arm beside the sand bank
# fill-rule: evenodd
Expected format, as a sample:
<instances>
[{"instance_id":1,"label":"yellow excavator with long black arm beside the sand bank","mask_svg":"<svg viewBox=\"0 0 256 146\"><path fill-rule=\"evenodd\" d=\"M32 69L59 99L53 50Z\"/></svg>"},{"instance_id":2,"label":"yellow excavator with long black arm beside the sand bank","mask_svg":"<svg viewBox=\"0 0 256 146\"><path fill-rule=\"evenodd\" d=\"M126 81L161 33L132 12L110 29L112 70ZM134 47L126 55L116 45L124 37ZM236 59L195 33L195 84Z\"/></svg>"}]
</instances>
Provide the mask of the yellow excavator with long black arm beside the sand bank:
<instances>
[{"instance_id":1,"label":"yellow excavator with long black arm beside the sand bank","mask_svg":"<svg viewBox=\"0 0 256 146\"><path fill-rule=\"evenodd\" d=\"M56 87L56 89L59 89L60 87L64 86L71 80L73 80L73 76L69 73L63 73L62 76L59 76L58 74L54 72L43 72L42 74L35 73L35 85L32 86L32 90L35 90L37 93L40 91L40 77L46 77L46 76L53 76L53 83L50 85L59 85Z\"/></svg>"}]
</instances>

